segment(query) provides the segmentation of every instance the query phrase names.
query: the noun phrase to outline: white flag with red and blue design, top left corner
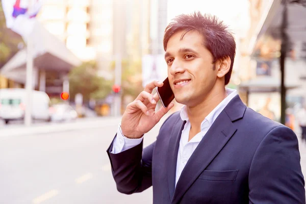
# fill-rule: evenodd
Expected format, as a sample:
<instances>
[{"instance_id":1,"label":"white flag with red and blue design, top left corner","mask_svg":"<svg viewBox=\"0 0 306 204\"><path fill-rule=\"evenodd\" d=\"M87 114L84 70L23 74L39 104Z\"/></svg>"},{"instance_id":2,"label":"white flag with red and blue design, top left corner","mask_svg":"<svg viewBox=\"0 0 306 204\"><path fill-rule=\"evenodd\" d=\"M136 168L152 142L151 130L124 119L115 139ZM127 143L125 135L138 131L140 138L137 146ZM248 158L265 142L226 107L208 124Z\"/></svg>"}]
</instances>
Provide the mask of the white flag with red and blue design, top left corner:
<instances>
[{"instance_id":1,"label":"white flag with red and blue design, top left corner","mask_svg":"<svg viewBox=\"0 0 306 204\"><path fill-rule=\"evenodd\" d=\"M32 7L29 10L29 0L2 0L7 27L26 41L33 31L35 17L41 8L42 1L32 0Z\"/></svg>"}]
</instances>

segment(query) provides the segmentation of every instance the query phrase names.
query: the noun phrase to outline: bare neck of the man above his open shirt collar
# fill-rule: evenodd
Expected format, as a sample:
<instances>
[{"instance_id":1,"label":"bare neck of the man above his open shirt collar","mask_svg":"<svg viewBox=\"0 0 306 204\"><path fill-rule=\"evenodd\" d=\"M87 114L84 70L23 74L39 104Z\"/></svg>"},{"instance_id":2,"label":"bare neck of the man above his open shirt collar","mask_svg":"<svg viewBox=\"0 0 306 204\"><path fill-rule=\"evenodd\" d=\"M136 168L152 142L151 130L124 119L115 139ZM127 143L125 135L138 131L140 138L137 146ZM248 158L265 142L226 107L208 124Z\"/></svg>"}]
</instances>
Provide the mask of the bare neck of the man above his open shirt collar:
<instances>
[{"instance_id":1,"label":"bare neck of the man above his open shirt collar","mask_svg":"<svg viewBox=\"0 0 306 204\"><path fill-rule=\"evenodd\" d=\"M187 114L191 124L191 132L197 134L201 131L202 121L221 103L226 97L224 86L214 87L199 104L187 106Z\"/></svg>"}]
</instances>

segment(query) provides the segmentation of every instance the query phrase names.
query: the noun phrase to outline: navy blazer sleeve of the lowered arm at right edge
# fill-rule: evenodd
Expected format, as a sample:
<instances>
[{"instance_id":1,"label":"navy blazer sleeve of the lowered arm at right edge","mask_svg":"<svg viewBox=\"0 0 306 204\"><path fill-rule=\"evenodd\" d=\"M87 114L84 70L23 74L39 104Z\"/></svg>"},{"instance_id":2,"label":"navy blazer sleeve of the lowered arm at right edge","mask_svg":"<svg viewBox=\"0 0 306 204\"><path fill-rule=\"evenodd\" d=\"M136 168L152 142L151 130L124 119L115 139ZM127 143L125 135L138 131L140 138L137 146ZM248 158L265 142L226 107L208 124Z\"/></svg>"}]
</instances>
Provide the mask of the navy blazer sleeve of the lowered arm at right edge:
<instances>
[{"instance_id":1,"label":"navy blazer sleeve of the lowered arm at right edge","mask_svg":"<svg viewBox=\"0 0 306 204\"><path fill-rule=\"evenodd\" d=\"M295 133L277 126L260 143L249 170L249 203L305 203Z\"/></svg>"}]
</instances>

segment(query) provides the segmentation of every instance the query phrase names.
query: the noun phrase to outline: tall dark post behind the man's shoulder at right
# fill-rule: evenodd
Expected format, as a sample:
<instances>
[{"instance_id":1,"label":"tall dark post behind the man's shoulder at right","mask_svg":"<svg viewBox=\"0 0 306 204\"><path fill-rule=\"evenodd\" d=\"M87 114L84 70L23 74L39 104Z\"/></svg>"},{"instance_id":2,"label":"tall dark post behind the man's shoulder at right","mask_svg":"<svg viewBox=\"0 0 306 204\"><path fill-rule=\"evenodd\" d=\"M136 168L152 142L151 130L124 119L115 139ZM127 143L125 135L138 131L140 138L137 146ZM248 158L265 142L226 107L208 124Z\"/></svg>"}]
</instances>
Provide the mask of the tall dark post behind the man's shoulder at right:
<instances>
[{"instance_id":1,"label":"tall dark post behind the man's shoulder at right","mask_svg":"<svg viewBox=\"0 0 306 204\"><path fill-rule=\"evenodd\" d=\"M288 24L287 19L287 1L284 1L283 21L281 27L282 35L282 46L281 46L281 57L279 63L281 65L281 123L286 122L286 87L285 87L285 58L288 50L288 36L286 28Z\"/></svg>"}]
</instances>

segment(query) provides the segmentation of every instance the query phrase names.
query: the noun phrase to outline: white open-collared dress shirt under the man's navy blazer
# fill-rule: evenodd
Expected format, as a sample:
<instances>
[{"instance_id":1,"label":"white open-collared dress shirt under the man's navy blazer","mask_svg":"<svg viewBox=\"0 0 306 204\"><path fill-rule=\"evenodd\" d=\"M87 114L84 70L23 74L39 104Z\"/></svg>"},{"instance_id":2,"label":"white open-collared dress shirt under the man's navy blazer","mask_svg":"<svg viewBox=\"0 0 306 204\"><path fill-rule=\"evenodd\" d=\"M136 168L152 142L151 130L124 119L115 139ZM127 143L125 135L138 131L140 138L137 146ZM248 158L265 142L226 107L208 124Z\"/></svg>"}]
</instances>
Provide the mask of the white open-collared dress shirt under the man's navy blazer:
<instances>
[{"instance_id":1,"label":"white open-collared dress shirt under the man's navy blazer","mask_svg":"<svg viewBox=\"0 0 306 204\"><path fill-rule=\"evenodd\" d=\"M201 122L201 132L196 134L189 142L189 132L191 124L186 111L186 106L183 106L181 109L181 119L186 120L184 129L182 131L182 136L180 139L179 152L177 153L177 162L176 162L176 175L175 175L175 186L177 181L181 176L181 173L187 164L189 158L191 157L193 151L198 146L202 138L206 135L218 115L223 111L228 103L237 95L237 91L234 89L225 88L227 96L224 98L221 103L210 113L208 116ZM113 154L118 154L126 149L130 149L141 143L143 138L140 139L128 139L123 137L121 133L120 125L117 131L117 137L114 139L114 145L112 149Z\"/></svg>"}]
</instances>

